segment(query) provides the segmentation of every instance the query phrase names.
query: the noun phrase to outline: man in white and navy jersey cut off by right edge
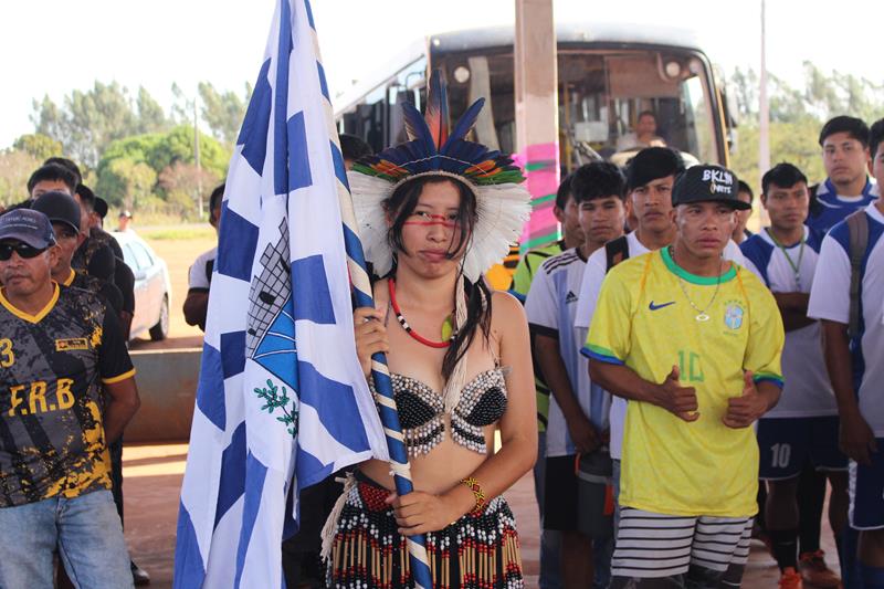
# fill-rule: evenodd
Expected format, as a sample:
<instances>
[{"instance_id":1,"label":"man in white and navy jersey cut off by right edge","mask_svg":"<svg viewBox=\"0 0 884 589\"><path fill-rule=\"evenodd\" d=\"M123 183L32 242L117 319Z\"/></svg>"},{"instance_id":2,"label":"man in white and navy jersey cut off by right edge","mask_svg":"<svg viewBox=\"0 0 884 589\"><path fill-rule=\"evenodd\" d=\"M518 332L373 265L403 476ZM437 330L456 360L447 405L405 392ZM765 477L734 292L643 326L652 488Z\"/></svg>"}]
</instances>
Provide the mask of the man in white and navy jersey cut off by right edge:
<instances>
[{"instance_id":1,"label":"man in white and navy jersey cut off by right edge","mask_svg":"<svg viewBox=\"0 0 884 589\"><path fill-rule=\"evenodd\" d=\"M884 119L870 132L872 170L884 181ZM862 239L865 235L865 239ZM850 525L860 530L859 582L884 587L884 203L835 224L817 264L808 315L822 320L825 364L850 462ZM865 242L862 246L862 242ZM855 260L855 263L854 263ZM855 280L854 280L855 278ZM852 295L852 284L855 294ZM848 536L849 537L849 536ZM844 546L845 555L853 551ZM845 587L853 569L844 571Z\"/></svg>"}]
</instances>

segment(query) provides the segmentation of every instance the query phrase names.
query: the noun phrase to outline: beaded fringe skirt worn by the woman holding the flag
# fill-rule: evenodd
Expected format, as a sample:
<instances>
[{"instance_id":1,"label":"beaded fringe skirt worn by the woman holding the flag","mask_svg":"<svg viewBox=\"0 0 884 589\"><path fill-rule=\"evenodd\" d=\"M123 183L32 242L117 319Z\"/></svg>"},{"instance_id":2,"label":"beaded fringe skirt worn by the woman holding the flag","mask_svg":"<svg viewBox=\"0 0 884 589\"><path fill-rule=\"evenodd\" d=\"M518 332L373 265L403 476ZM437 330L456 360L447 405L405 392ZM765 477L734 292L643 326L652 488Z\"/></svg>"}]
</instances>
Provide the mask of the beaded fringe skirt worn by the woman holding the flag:
<instances>
[{"instance_id":1,"label":"beaded fringe skirt worn by the woman holding the flag","mask_svg":"<svg viewBox=\"0 0 884 589\"><path fill-rule=\"evenodd\" d=\"M389 491L367 481L350 488L335 528L327 585L335 588L414 587L406 539L397 532ZM503 497L425 535L435 589L522 589L516 520Z\"/></svg>"}]
</instances>

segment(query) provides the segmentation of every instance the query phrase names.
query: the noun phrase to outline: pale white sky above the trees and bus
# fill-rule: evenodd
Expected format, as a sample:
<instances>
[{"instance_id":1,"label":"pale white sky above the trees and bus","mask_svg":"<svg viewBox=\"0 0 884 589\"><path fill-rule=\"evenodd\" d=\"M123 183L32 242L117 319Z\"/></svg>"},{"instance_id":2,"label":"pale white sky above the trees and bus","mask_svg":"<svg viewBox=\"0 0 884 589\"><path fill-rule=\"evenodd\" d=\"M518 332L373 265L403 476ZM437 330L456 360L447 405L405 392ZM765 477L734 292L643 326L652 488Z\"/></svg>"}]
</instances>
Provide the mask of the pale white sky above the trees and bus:
<instances>
[{"instance_id":1,"label":"pale white sky above the trees and bus","mask_svg":"<svg viewBox=\"0 0 884 589\"><path fill-rule=\"evenodd\" d=\"M725 71L758 69L760 0L555 0L557 21L593 19L695 29ZM835 10L833 10L833 8ZM242 91L261 65L274 0L41 0L0 13L0 148L31 133L32 101L61 102L95 80L145 86L171 103L171 84ZM512 23L512 0L313 0L332 95L432 32ZM828 12L827 12L828 10ZM884 81L873 32L884 2L768 0L768 70L792 83L802 62ZM864 32L863 27L865 29Z\"/></svg>"}]
</instances>

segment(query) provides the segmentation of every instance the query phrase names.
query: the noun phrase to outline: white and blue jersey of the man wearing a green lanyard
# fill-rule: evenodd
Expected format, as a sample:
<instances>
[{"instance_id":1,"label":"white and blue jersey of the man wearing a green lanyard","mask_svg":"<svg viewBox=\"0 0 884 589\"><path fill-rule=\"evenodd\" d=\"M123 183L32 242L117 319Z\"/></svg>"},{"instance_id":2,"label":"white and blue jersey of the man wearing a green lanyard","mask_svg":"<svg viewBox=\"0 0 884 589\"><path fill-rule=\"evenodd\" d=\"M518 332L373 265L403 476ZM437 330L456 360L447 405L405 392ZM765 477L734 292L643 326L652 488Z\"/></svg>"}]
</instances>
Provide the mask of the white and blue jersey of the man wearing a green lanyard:
<instances>
[{"instance_id":1,"label":"white and blue jersey of the man wearing a green lanyard","mask_svg":"<svg viewBox=\"0 0 884 589\"><path fill-rule=\"evenodd\" d=\"M740 245L746 269L755 273L774 293L809 293L813 284L822 234L804 227L804 249L796 243L786 248L798 266L798 280L786 253L762 230ZM800 263L799 263L800 260ZM800 284L799 284L800 282ZM777 407L765 418L812 418L836 416L832 385L822 353L820 323L786 333L782 349L782 376L786 385Z\"/></svg>"}]
</instances>

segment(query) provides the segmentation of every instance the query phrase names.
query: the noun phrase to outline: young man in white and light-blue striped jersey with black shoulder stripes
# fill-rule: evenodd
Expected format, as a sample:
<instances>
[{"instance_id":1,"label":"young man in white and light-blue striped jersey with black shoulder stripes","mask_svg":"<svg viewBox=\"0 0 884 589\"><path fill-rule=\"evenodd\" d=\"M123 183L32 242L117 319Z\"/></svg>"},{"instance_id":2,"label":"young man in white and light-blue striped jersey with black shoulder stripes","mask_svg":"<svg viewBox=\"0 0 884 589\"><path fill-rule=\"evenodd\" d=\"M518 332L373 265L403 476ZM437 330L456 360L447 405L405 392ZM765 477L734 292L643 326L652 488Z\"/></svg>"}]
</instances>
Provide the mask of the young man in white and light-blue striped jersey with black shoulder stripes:
<instances>
[{"instance_id":1,"label":"young man in white and light-blue striped jersey with black shoulder stripes","mask_svg":"<svg viewBox=\"0 0 884 589\"><path fill-rule=\"evenodd\" d=\"M561 534L562 587L607 587L612 526L608 518L607 534L590 536L581 529L581 509L602 514L603 506L588 505L592 498L580 493L575 462L578 454L596 452L608 460L603 448L609 399L589 381L573 319L587 257L623 232L623 173L602 161L582 166L572 175L571 194L579 209L583 242L540 265L525 302L535 361L552 392L546 433L544 528ZM586 557L590 553L592 559Z\"/></svg>"}]
</instances>

